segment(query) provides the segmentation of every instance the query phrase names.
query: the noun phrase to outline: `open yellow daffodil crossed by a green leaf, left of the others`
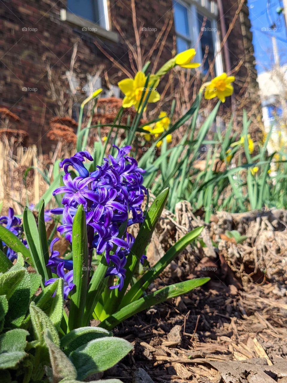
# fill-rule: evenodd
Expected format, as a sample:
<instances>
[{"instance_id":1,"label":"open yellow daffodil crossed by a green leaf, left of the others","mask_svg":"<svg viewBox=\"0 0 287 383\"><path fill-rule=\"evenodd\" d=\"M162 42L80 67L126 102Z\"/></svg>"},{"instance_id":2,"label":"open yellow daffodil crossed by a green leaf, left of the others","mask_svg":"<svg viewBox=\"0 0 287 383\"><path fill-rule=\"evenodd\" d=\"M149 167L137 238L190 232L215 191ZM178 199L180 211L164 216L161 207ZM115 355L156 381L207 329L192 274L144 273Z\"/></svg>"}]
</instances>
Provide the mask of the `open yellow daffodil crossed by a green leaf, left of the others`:
<instances>
[{"instance_id":1,"label":"open yellow daffodil crossed by a green leaf, left of the others","mask_svg":"<svg viewBox=\"0 0 287 383\"><path fill-rule=\"evenodd\" d=\"M122 93L125 95L124 100L122 101L123 108L129 108L130 106L134 105L136 110L139 109L139 103L143 92L145 93L144 97L146 97L149 91L149 87L153 85L153 82L156 80L156 78L154 75L150 76L148 86L145 88L146 80L147 76L143 72L137 72L134 79L124 79L117 84L119 85ZM156 85L157 82L153 86ZM160 94L155 88L152 88L148 97L148 102L157 102L159 100Z\"/></svg>"}]
</instances>

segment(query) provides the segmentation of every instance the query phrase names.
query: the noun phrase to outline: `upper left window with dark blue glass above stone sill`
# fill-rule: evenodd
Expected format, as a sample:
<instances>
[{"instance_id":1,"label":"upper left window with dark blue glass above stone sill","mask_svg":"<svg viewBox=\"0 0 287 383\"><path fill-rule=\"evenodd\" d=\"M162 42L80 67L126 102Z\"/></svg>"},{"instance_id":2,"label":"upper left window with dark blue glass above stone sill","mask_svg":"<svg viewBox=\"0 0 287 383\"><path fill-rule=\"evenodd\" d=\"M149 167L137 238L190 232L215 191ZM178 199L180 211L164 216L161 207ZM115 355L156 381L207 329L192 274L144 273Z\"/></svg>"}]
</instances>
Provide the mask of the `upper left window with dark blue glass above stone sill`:
<instances>
[{"instance_id":1,"label":"upper left window with dark blue glass above stone sill","mask_svg":"<svg viewBox=\"0 0 287 383\"><path fill-rule=\"evenodd\" d=\"M106 0L67 0L67 11L109 29Z\"/></svg>"}]
</instances>

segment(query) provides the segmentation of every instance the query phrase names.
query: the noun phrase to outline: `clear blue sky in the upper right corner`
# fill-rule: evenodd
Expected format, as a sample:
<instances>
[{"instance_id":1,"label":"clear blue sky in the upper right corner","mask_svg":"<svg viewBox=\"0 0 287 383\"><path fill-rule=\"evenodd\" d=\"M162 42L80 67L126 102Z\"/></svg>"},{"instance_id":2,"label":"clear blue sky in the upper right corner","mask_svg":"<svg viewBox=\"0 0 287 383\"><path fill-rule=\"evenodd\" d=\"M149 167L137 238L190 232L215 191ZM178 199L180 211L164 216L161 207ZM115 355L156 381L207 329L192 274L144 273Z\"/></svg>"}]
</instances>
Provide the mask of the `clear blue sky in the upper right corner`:
<instances>
[{"instance_id":1,"label":"clear blue sky in the upper right corner","mask_svg":"<svg viewBox=\"0 0 287 383\"><path fill-rule=\"evenodd\" d=\"M287 63L287 31L284 15L278 16L276 13L278 7L283 7L282 1L269 0L269 7L267 5L268 0L248 0L258 73L274 65L272 36L276 37L280 64ZM273 23L276 23L274 31L271 30Z\"/></svg>"}]
</instances>

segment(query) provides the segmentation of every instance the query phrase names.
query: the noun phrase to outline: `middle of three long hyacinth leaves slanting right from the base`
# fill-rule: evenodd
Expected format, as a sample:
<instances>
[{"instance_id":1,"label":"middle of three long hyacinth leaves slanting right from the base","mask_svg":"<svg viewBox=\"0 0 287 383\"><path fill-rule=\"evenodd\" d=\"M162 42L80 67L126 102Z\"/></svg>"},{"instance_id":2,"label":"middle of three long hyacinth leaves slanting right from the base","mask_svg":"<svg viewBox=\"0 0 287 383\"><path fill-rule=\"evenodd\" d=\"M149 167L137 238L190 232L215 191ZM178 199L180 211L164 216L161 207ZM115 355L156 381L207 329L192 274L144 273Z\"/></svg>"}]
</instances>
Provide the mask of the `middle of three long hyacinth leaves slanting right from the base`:
<instances>
[{"instance_id":1,"label":"middle of three long hyacinth leaves slanting right from the base","mask_svg":"<svg viewBox=\"0 0 287 383\"><path fill-rule=\"evenodd\" d=\"M170 262L183 251L199 234L201 234L203 226L192 230L187 233L181 239L179 239L166 254L153 266L153 270L149 270L145 273L127 292L124 296L120 308L126 306L130 302L134 302L142 293L148 288L148 286L160 275L161 272L170 264Z\"/></svg>"}]
</instances>

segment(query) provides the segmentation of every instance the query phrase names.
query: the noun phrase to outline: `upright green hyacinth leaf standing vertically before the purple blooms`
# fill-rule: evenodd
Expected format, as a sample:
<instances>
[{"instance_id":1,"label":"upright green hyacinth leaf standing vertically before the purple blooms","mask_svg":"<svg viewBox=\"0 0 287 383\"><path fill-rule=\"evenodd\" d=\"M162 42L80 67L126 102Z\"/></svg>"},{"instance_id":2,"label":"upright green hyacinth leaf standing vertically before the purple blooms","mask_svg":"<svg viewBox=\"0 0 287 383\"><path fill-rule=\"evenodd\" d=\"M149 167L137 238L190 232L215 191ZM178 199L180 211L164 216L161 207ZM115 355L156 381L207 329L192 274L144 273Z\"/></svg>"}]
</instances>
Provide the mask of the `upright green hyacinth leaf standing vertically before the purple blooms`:
<instances>
[{"instance_id":1,"label":"upright green hyacinth leaf standing vertically before the purple blooms","mask_svg":"<svg viewBox=\"0 0 287 383\"><path fill-rule=\"evenodd\" d=\"M86 213L83 205L79 205L72 227L73 249L73 283L75 290L71 295L68 326L70 330L80 327L86 304L88 288L88 237Z\"/></svg>"}]
</instances>

